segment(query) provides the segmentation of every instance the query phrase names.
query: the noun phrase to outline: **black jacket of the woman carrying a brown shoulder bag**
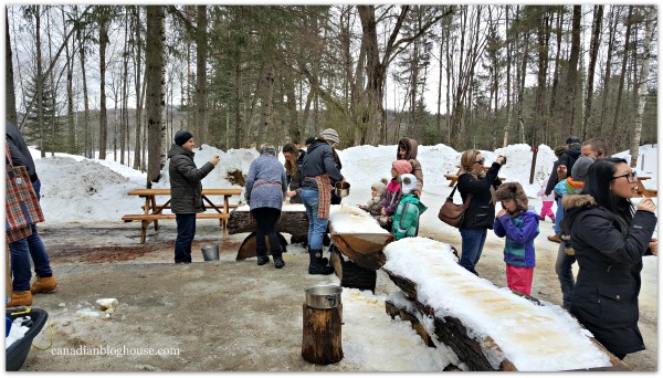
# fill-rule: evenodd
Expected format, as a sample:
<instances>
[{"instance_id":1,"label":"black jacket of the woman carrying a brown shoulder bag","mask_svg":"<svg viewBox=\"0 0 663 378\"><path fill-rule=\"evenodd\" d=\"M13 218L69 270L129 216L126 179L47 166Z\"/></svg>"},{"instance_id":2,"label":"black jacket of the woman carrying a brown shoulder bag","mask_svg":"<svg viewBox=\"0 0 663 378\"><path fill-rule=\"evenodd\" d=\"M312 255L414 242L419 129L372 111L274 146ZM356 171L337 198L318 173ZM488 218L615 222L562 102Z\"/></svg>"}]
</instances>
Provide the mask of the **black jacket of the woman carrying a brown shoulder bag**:
<instances>
[{"instance_id":1,"label":"black jacket of the woman carrying a brown shoulder bag","mask_svg":"<svg viewBox=\"0 0 663 378\"><path fill-rule=\"evenodd\" d=\"M491 193L491 186L497 188L502 183L502 180L497 178L501 167L502 166L497 161L493 162L491 169L488 169L486 176L482 179L476 179L470 174L462 174L459 176L457 185L463 202L467 200L467 195L472 193L472 200L465 210L465 217L463 218L461 229L493 229L495 204L491 203L493 197Z\"/></svg>"}]
</instances>

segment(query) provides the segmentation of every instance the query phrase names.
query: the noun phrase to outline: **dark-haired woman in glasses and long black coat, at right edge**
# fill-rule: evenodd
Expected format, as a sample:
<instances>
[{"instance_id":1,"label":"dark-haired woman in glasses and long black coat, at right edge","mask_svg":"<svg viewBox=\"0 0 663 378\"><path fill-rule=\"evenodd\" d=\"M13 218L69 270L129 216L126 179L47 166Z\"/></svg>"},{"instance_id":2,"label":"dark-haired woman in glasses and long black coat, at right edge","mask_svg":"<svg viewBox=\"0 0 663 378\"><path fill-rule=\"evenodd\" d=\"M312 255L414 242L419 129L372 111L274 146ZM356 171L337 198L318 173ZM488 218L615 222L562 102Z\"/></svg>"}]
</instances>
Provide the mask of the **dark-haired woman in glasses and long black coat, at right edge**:
<instances>
[{"instance_id":1,"label":"dark-haired woman in glasses and long black coat, at right edge","mask_svg":"<svg viewBox=\"0 0 663 378\"><path fill-rule=\"evenodd\" d=\"M589 167L579 195L562 199L561 228L571 235L580 267L571 314L620 359L644 349L638 329L640 271L648 251L657 254L656 206L646 198L633 211L636 189L627 160L607 158Z\"/></svg>"}]
</instances>

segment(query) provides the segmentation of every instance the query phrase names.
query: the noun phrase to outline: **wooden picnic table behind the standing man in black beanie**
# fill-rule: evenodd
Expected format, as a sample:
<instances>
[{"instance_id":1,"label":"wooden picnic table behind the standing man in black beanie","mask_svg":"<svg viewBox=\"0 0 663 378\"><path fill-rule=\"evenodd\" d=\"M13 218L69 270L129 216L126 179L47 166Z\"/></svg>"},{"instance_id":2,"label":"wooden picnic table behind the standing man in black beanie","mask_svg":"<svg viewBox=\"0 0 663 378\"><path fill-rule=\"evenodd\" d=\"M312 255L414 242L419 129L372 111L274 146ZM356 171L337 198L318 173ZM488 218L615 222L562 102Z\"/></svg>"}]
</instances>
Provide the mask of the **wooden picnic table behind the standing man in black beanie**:
<instances>
[{"instance_id":1,"label":"wooden picnic table behind the standing man in black beanie","mask_svg":"<svg viewBox=\"0 0 663 378\"><path fill-rule=\"evenodd\" d=\"M236 204L230 203L230 198L232 196L240 196L242 193L242 189L240 188L224 188L224 189L202 189L202 200L206 210L213 209L214 212L201 212L196 214L196 219L218 219L219 225L223 228L223 240L227 239L228 235L228 219L230 217L230 209L235 208ZM147 237L147 227L150 222L154 222L155 230L159 230L159 220L162 219L176 219L176 214L173 213L164 213L164 210L172 209L170 204L170 188L158 188L158 189L147 189L139 188L134 189L127 193L128 196L138 196L145 198L145 204L143 204L143 213L139 214L125 214L122 217L122 220L125 222L130 222L135 220L139 220L141 223L141 233L140 233L140 242L145 243L145 239ZM222 203L214 203L209 196L219 196L223 197ZM162 204L157 203L157 197L167 197L168 199Z\"/></svg>"}]
</instances>

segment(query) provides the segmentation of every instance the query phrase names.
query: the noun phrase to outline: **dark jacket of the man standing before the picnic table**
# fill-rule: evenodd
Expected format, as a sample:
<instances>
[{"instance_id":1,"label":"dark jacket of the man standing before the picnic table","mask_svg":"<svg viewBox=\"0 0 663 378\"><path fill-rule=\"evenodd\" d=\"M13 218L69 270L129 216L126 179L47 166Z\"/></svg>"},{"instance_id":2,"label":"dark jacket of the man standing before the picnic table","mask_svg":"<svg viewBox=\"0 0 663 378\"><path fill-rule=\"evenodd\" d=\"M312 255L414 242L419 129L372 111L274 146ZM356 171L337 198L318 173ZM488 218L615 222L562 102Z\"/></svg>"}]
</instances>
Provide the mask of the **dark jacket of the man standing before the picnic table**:
<instances>
[{"instance_id":1,"label":"dark jacket of the man standing before the picnic table","mask_svg":"<svg viewBox=\"0 0 663 378\"><path fill-rule=\"evenodd\" d=\"M208 161L198 169L193 162L194 155L176 144L172 144L168 151L170 204L176 214L194 214L204 211L200 181L214 169L214 165Z\"/></svg>"}]
</instances>

